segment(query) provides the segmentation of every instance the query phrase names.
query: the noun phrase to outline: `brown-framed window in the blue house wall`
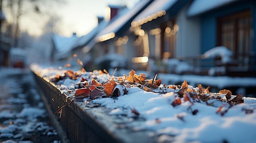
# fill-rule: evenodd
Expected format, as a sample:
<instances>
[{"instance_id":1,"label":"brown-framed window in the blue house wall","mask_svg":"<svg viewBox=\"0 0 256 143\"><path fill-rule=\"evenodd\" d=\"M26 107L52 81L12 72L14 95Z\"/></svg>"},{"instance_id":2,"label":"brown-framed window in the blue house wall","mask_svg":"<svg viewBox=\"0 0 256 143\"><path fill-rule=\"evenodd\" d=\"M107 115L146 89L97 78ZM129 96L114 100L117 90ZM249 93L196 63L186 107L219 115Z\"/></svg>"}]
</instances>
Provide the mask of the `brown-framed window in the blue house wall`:
<instances>
[{"instance_id":1,"label":"brown-framed window in the blue house wall","mask_svg":"<svg viewBox=\"0 0 256 143\"><path fill-rule=\"evenodd\" d=\"M235 53L245 54L251 51L251 13L243 11L218 19L218 46L226 46Z\"/></svg>"}]
</instances>

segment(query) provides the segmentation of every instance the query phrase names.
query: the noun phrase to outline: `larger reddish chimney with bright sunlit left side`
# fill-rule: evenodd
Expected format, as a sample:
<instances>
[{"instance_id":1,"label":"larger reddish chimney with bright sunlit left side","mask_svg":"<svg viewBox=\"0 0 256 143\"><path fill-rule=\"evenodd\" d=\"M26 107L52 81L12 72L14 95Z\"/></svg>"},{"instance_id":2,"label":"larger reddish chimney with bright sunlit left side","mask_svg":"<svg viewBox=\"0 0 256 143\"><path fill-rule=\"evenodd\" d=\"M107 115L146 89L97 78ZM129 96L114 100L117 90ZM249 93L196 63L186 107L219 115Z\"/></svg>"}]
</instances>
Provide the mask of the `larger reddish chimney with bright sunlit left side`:
<instances>
[{"instance_id":1,"label":"larger reddish chimney with bright sunlit left side","mask_svg":"<svg viewBox=\"0 0 256 143\"><path fill-rule=\"evenodd\" d=\"M106 21L112 20L112 18L114 18L117 15L118 11L125 7L126 6L121 6L121 5L108 5L108 7L106 7L105 9L105 20Z\"/></svg>"}]
</instances>

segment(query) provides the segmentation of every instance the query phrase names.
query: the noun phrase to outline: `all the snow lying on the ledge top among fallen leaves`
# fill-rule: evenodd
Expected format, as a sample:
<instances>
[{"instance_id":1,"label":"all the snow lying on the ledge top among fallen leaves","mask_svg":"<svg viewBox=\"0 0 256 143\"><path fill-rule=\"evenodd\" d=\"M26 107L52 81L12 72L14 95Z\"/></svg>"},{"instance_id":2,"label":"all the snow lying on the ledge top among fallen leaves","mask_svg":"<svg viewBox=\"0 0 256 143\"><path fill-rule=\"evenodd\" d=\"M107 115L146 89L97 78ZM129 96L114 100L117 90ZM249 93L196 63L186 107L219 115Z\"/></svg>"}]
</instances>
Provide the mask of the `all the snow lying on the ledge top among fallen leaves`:
<instances>
[{"instance_id":1,"label":"all the snow lying on the ledge top among fallen leaves","mask_svg":"<svg viewBox=\"0 0 256 143\"><path fill-rule=\"evenodd\" d=\"M50 80L56 73L63 75L61 74L63 71L54 69L39 69L37 71L42 75L48 75L47 77ZM97 79L100 83L108 82L106 79L116 80L115 78L117 78L99 72L83 73L79 71L78 73L88 80L87 83L91 83L92 78ZM126 77L119 78L127 79ZM74 91L74 84L78 81L80 81L80 78L72 80L65 77L55 84L65 93L66 90ZM128 120L125 120L126 123L123 124L134 131L151 131L148 136L157 136L157 142L159 143L252 143L256 141L255 98L243 97L244 103L231 105L228 102L235 100L235 96L227 99L228 97L223 93L207 93L205 94L206 97L212 98L203 101L203 99L194 99L194 97L179 96L178 91L181 88L178 88L178 90L177 88L176 90L166 89L163 84L151 92L147 92L139 86L126 86L124 88L124 86L117 84L116 88L119 88L119 97L100 97L92 100L92 97L89 96L84 99L85 104L97 103L100 106L105 106L108 109L106 112L109 111L108 114L112 116L128 118ZM124 89L127 90L126 95ZM188 89L200 92L198 87L188 86ZM86 88L83 90L86 90ZM167 93L160 93L162 90L167 91ZM191 92L191 94L195 93ZM75 95L71 96L74 97Z\"/></svg>"}]
</instances>

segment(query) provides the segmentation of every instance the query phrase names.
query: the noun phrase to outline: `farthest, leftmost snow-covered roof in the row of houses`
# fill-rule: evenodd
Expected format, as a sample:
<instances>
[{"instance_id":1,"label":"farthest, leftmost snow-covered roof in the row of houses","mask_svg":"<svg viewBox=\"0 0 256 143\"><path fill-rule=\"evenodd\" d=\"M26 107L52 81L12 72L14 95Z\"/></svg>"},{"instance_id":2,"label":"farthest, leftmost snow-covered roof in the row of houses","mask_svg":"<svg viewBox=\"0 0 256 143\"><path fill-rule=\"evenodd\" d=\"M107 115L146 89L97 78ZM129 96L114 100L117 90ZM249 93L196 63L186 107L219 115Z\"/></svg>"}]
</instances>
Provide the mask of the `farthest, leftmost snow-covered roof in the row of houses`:
<instances>
[{"instance_id":1,"label":"farthest, leftmost snow-covered roof in the row of houses","mask_svg":"<svg viewBox=\"0 0 256 143\"><path fill-rule=\"evenodd\" d=\"M53 43L56 47L56 58L60 59L64 57L76 43L76 40L79 37L73 35L72 37L63 37L57 34L54 34L52 37Z\"/></svg>"}]
</instances>

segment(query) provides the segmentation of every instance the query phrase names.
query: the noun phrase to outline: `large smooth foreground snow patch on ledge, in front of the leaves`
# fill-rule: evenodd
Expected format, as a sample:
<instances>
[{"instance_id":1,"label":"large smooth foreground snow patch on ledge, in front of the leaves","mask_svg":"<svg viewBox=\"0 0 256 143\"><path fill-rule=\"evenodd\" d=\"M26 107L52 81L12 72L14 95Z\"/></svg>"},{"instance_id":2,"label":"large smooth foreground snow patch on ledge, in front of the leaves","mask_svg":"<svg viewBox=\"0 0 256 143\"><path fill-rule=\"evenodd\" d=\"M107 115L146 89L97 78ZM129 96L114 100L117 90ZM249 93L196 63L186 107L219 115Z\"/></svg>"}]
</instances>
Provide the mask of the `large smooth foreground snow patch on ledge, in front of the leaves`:
<instances>
[{"instance_id":1,"label":"large smooth foreground snow patch on ledge, in front of the leaves","mask_svg":"<svg viewBox=\"0 0 256 143\"><path fill-rule=\"evenodd\" d=\"M179 106L173 107L171 103L176 96L177 94L173 92L159 95L139 88L129 88L128 95L118 97L115 102L111 98L95 99L92 102L112 109L110 114L126 113L128 117L133 115L132 112L122 109L135 108L140 114L139 117L144 118L145 121L134 120L128 125L134 130L151 130L153 131L151 135L154 136L164 134L160 136L159 142L169 139L174 142L255 141L256 99L244 98L244 104L230 108L224 116L221 116L216 114L218 107L203 103L194 103L192 106L189 101L184 101L184 98L181 99L182 103ZM228 108L227 104L223 105ZM243 112L244 108L252 108L253 113L246 114ZM194 110L198 110L195 115L192 114Z\"/></svg>"}]
</instances>

